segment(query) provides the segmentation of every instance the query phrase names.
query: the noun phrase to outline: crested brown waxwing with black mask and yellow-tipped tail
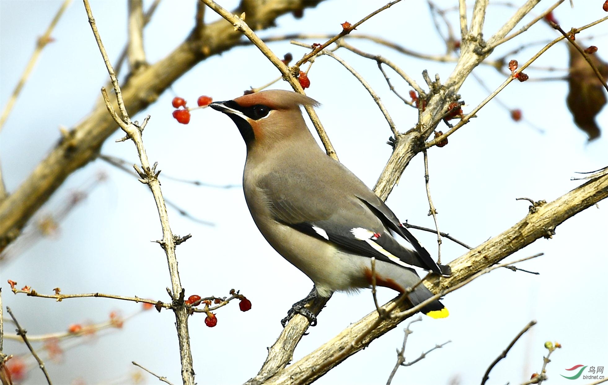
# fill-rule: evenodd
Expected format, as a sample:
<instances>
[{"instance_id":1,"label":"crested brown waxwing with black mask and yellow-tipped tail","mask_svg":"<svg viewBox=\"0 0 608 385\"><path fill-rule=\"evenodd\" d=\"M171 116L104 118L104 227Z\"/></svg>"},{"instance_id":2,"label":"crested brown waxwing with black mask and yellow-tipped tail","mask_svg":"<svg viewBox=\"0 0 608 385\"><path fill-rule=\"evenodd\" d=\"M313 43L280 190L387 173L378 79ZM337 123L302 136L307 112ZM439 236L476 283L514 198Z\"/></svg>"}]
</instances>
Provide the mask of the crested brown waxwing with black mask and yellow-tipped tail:
<instances>
[{"instance_id":1,"label":"crested brown waxwing with black mask and yellow-tipped tail","mask_svg":"<svg viewBox=\"0 0 608 385\"><path fill-rule=\"evenodd\" d=\"M317 145L300 106L318 105L305 95L285 90L210 104L228 115L243 136L245 200L264 238L314 282L313 296L370 287L371 257L376 260L376 285L401 293L420 282L413 267L451 274L373 191ZM393 233L414 250L399 244ZM408 298L417 305L431 296L419 284ZM303 301L309 299L310 295ZM314 324L310 312L300 308L295 312ZM421 312L433 318L449 314L440 301L430 302Z\"/></svg>"}]
</instances>

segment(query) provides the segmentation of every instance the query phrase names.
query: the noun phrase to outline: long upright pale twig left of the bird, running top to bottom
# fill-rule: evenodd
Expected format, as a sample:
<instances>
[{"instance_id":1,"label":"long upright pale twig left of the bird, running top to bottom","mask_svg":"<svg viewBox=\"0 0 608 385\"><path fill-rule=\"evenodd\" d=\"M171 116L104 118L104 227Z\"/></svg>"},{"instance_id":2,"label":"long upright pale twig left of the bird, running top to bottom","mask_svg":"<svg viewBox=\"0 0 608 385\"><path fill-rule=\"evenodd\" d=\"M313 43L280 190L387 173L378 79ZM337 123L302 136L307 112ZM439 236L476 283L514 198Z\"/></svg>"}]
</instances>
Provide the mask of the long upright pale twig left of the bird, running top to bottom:
<instances>
[{"instance_id":1,"label":"long upright pale twig left of the bird, running top to bottom","mask_svg":"<svg viewBox=\"0 0 608 385\"><path fill-rule=\"evenodd\" d=\"M91 24L91 29L93 30L95 39L97 40L99 50L102 53L103 61L105 62L106 68L108 69L108 74L110 80L112 81L114 92L116 92L116 99L121 116L117 116L116 112L114 111L114 107L112 107L112 104L109 101L105 88L102 87L103 99L105 100L108 112L110 113L110 115L112 115L114 121L119 124L120 128L122 128L123 131L125 131L126 137L133 140L137 148L137 152L139 154L139 159L143 170L137 170L138 174L141 177L140 181L142 183L147 183L147 185L150 187L150 191L154 196L154 200L156 201L156 207L159 213L159 217L161 219L163 233L163 239L159 241L159 244L161 244L162 248L165 251L165 254L167 255L167 263L171 277L171 287L173 288L173 293L171 293L171 297L173 299L173 312L175 313L176 327L178 329L177 331L179 340L179 355L182 364L182 380L184 381L184 385L193 385L195 381L194 369L192 367L190 336L188 334L188 310L184 304L184 290L182 289L182 285L179 280L178 261L175 255L176 240L169 225L167 207L165 206L165 201L162 197L161 183L158 180L158 172L156 172L156 163L154 164L154 166L150 166L148 155L146 154L142 141L142 132L150 117L146 117L145 120L143 120L141 126L137 126L137 122L131 122L131 118L127 114L125 104L122 100L122 94L120 92L118 80L116 79L116 74L114 73L114 69L112 69L112 65L110 64L108 59L108 54L106 53L106 50L103 47L102 40L97 31L97 27L95 26L95 19L93 18L93 15L91 13L91 7L89 6L88 0L83 1L85 2L86 13L89 16L89 24Z\"/></svg>"}]
</instances>

